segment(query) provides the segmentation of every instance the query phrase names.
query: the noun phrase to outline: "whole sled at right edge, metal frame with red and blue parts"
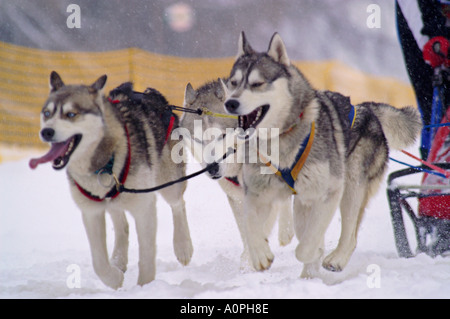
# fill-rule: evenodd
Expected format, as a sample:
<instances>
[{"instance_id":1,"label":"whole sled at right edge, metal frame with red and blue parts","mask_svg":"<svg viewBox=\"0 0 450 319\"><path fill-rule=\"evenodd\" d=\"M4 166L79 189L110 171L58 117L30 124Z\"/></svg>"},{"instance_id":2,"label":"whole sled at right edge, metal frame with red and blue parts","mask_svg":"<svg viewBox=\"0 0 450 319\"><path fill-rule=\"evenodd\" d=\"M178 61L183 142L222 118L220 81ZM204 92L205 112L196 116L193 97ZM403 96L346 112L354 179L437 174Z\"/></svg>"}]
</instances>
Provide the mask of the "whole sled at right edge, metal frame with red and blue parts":
<instances>
[{"instance_id":1,"label":"whole sled at right edge, metal frame with red and blue parts","mask_svg":"<svg viewBox=\"0 0 450 319\"><path fill-rule=\"evenodd\" d=\"M448 87L450 81L449 71L443 65L435 69L431 125L425 126L422 134L429 134L427 163L433 163L433 168L410 167L388 177L387 195L400 257L414 257L422 252L432 257L450 254L450 101L445 101L444 91L445 83ZM421 173L421 185L401 184L402 177ZM410 248L403 212L414 226L415 253Z\"/></svg>"}]
</instances>

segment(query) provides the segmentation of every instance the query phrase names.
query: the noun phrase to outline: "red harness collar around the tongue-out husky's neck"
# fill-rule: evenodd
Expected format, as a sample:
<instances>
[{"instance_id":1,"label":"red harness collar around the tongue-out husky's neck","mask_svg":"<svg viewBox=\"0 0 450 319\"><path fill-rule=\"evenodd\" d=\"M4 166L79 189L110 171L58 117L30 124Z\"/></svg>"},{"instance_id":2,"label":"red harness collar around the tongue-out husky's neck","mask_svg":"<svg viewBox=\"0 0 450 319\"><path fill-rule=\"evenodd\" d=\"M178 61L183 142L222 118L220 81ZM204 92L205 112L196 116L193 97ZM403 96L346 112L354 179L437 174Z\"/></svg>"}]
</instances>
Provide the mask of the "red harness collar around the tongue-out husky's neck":
<instances>
[{"instance_id":1,"label":"red harness collar around the tongue-out husky's neck","mask_svg":"<svg viewBox=\"0 0 450 319\"><path fill-rule=\"evenodd\" d=\"M122 172L120 173L119 179L117 180L120 184L119 185L123 185L125 184L125 181L127 180L128 177L128 173L130 172L130 164L131 164L131 144L130 144L130 134L128 133L128 128L125 125L125 133L127 135L127 159L125 161L125 165L122 169ZM110 159L110 161L108 162L108 164L106 164L105 168L96 171L96 174L100 174L100 173L107 173L110 174L114 177L114 179L117 179L116 176L114 175L114 173L112 172L112 165L110 167L110 170L108 171L108 168L110 166L110 163L112 162L112 165L114 165L114 155L112 156L112 158ZM103 170L103 172L102 172ZM89 198L90 200L94 201L94 202L103 202L106 198L110 198L110 199L114 199L117 196L119 196L120 192L117 189L117 186L114 186L106 195L104 198L101 198L99 196L93 195L91 192L89 192L88 190L84 189L83 187L81 187L75 180L73 180L73 182L75 183L75 185L77 186L78 190L80 191L81 194L83 194L85 197ZM117 184L117 182L116 182Z\"/></svg>"}]
</instances>

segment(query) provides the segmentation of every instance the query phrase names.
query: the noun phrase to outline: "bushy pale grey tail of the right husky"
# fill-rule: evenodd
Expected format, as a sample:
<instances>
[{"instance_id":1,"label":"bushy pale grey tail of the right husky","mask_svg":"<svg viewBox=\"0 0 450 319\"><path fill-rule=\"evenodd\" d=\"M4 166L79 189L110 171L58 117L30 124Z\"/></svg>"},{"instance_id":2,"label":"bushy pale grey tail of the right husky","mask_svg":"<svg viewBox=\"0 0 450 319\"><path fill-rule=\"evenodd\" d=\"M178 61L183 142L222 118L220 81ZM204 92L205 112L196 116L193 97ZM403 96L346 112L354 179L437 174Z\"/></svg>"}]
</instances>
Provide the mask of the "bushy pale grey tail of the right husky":
<instances>
[{"instance_id":1,"label":"bushy pale grey tail of the right husky","mask_svg":"<svg viewBox=\"0 0 450 319\"><path fill-rule=\"evenodd\" d=\"M416 108L371 103L370 109L380 120L389 148L401 150L414 144L422 129L422 119Z\"/></svg>"}]
</instances>

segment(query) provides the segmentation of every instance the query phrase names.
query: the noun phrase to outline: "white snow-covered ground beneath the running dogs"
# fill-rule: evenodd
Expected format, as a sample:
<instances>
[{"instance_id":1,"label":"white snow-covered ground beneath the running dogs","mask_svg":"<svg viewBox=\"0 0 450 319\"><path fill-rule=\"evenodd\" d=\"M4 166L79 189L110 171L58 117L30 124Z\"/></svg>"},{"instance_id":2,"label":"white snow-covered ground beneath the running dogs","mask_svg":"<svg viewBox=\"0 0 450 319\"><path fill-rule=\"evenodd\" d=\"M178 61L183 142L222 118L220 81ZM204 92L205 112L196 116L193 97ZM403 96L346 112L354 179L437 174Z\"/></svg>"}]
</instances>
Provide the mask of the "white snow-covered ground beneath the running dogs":
<instances>
[{"instance_id":1,"label":"white snow-covered ground beneath the running dogs","mask_svg":"<svg viewBox=\"0 0 450 319\"><path fill-rule=\"evenodd\" d=\"M393 157L411 162L399 153ZM188 171L198 168L189 164ZM390 163L390 171L399 168ZM130 217L128 271L123 288L114 291L94 274L65 173L50 165L32 171L27 159L5 162L0 164L0 298L450 298L450 258L397 256L385 188L370 203L347 268L303 280L294 256L296 239L280 247L276 228L270 237L272 267L266 272L240 268L242 244L226 198L216 182L200 176L185 194L191 264L176 261L171 212L159 198L156 280L136 285L138 249ZM107 227L112 234L110 222ZM339 231L336 214L326 236L328 252ZM112 236L108 240L112 245ZM81 279L79 288L72 288L74 275Z\"/></svg>"}]
</instances>

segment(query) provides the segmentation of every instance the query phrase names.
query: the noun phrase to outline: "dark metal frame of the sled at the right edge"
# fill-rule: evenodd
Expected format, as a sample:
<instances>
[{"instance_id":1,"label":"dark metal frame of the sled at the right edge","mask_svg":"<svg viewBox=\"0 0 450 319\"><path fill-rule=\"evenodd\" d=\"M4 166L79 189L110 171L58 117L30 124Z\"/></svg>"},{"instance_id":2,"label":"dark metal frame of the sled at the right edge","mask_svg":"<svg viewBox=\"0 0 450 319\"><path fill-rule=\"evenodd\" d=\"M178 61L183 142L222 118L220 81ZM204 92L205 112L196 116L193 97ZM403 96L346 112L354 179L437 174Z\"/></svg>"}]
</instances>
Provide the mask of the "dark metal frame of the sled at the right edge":
<instances>
[{"instance_id":1,"label":"dark metal frame of the sled at the right edge","mask_svg":"<svg viewBox=\"0 0 450 319\"><path fill-rule=\"evenodd\" d=\"M442 169L450 169L450 163L437 163L436 166ZM441 255L450 250L450 220L419 216L414 212L414 209L407 202L408 198L424 198L436 196L450 196L449 186L414 186L414 185L397 185L395 180L407 175L423 173L423 169L427 167L407 168L404 170L393 172L388 177L387 196L391 210L392 225L394 228L395 244L400 257L410 258L414 257L409 245L406 234L405 223L403 220L403 210L411 219L417 239L417 253L424 252L430 256ZM424 189L443 189L448 190L448 193L436 194L421 194L420 190ZM437 236L438 235L438 236ZM430 237L438 237L436 240L431 240Z\"/></svg>"}]
</instances>

